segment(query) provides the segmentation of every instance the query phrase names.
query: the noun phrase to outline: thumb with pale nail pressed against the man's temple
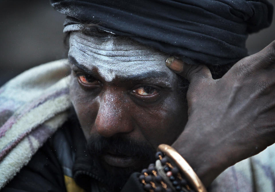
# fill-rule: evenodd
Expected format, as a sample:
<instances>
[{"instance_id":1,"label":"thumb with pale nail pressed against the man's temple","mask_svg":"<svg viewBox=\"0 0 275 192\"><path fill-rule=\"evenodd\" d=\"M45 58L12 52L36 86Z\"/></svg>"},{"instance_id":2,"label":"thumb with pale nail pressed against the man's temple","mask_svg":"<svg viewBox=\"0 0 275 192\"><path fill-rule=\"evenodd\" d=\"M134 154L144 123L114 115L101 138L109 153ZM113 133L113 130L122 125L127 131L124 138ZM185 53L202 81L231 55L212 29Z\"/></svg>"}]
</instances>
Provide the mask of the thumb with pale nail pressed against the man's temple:
<instances>
[{"instance_id":1,"label":"thumb with pale nail pressed against the man's temple","mask_svg":"<svg viewBox=\"0 0 275 192\"><path fill-rule=\"evenodd\" d=\"M186 78L190 83L205 78L212 79L211 72L205 65L189 65L172 56L166 59L166 66L175 73Z\"/></svg>"}]
</instances>

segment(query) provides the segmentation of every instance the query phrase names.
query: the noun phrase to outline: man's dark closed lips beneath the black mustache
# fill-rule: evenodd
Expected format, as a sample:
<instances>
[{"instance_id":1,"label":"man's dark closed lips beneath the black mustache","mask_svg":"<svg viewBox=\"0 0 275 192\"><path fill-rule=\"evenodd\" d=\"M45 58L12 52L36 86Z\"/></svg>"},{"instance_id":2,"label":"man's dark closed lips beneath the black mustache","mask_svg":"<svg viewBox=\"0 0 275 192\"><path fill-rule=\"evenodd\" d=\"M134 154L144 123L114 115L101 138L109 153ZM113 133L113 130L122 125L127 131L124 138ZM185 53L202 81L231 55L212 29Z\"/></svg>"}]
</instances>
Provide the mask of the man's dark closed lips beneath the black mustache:
<instances>
[{"instance_id":1,"label":"man's dark closed lips beneath the black mustache","mask_svg":"<svg viewBox=\"0 0 275 192\"><path fill-rule=\"evenodd\" d=\"M111 153L104 154L102 158L107 164L121 168L131 167L137 163L136 159L131 156L119 156Z\"/></svg>"}]
</instances>

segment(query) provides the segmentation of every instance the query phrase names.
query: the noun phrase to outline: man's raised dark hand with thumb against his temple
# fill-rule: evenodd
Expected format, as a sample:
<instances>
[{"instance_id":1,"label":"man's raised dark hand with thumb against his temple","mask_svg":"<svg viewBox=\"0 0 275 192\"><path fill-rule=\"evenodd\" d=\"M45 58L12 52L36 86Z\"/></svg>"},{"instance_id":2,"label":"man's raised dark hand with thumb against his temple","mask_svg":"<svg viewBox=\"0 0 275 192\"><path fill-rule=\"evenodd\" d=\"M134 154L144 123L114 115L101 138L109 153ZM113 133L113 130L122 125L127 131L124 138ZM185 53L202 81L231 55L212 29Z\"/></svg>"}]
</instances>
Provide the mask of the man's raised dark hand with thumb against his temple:
<instances>
[{"instance_id":1,"label":"man's raised dark hand with thumb against his temple","mask_svg":"<svg viewBox=\"0 0 275 192\"><path fill-rule=\"evenodd\" d=\"M275 142L275 41L214 80L204 65L166 65L190 82L188 122L173 147L208 186Z\"/></svg>"}]
</instances>

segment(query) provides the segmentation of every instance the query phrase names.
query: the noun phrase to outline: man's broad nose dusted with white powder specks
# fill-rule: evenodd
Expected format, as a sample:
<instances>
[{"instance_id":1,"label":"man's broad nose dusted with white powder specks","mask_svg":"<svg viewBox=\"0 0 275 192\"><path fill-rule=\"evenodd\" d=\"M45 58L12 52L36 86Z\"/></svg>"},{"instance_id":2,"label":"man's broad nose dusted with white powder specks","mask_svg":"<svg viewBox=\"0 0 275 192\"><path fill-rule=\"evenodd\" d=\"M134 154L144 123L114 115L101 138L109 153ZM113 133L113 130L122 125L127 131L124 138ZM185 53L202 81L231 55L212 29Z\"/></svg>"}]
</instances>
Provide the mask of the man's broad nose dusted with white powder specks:
<instances>
[{"instance_id":1,"label":"man's broad nose dusted with white powder specks","mask_svg":"<svg viewBox=\"0 0 275 192\"><path fill-rule=\"evenodd\" d=\"M131 116L123 95L117 91L105 90L99 103L95 119L95 129L99 135L111 137L117 133L129 133L133 130Z\"/></svg>"}]
</instances>

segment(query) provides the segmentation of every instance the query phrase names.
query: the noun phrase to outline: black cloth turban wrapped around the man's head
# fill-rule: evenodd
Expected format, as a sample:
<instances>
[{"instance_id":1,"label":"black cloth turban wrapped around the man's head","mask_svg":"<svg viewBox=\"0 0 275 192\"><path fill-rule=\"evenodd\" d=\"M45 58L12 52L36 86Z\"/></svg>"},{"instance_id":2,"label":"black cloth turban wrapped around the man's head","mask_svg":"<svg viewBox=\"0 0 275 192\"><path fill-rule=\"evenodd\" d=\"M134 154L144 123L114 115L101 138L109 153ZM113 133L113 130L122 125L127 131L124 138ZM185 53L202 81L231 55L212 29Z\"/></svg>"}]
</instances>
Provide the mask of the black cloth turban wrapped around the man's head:
<instances>
[{"instance_id":1,"label":"black cloth turban wrapped around the man's head","mask_svg":"<svg viewBox=\"0 0 275 192\"><path fill-rule=\"evenodd\" d=\"M249 33L270 26L267 0L51 0L68 16L64 31L83 23L129 36L188 63L224 65L247 56Z\"/></svg>"}]
</instances>

